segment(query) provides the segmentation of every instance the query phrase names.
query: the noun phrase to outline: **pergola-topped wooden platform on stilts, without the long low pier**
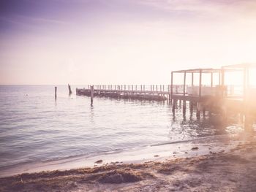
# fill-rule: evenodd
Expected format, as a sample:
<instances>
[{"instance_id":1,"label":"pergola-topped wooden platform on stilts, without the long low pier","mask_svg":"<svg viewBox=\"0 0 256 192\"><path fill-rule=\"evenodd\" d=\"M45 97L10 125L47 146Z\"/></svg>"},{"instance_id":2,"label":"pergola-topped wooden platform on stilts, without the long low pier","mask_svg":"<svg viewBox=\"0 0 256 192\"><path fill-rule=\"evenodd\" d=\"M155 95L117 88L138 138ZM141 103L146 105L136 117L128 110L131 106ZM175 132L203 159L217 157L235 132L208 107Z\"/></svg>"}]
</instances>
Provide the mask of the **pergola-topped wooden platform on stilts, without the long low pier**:
<instances>
[{"instance_id":1,"label":"pergola-topped wooden platform on stilts, without the long low pier","mask_svg":"<svg viewBox=\"0 0 256 192\"><path fill-rule=\"evenodd\" d=\"M241 64L232 66L222 66L222 69L186 69L171 73L171 85L176 74L183 75L184 84L181 91L170 89L171 103L173 112L175 112L177 101L183 101L183 112L186 113L186 104L189 101L189 109L192 112L193 107L197 110L197 117L200 112L214 112L221 114L222 118L227 118L229 114L239 114L243 117L244 123L252 126L256 120L256 88L249 85L249 69L255 68L254 64ZM225 76L229 72L239 72L243 77L242 87L239 93L234 92L234 85L225 84ZM197 82L195 85L195 74ZM208 74L208 84L202 81L203 75ZM217 80L214 81L214 75ZM191 80L187 83L187 77ZM248 127L248 126L244 126Z\"/></svg>"}]
</instances>

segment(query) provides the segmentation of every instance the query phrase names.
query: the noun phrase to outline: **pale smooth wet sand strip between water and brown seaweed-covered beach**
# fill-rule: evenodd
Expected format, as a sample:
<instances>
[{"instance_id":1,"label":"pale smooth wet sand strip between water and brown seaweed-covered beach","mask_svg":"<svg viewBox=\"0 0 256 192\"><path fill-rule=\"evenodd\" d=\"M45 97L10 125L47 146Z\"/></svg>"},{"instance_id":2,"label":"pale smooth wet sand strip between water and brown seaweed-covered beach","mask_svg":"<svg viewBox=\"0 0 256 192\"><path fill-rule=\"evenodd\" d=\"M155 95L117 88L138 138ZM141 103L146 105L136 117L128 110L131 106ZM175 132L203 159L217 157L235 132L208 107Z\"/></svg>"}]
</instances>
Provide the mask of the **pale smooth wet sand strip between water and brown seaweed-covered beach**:
<instances>
[{"instance_id":1,"label":"pale smooth wet sand strip between water and brown seaweed-covered beach","mask_svg":"<svg viewBox=\"0 0 256 192\"><path fill-rule=\"evenodd\" d=\"M65 171L84 167L90 168L111 164L113 162L121 162L121 164L145 163L146 161L165 161L166 159L207 155L218 153L223 150L228 152L238 145L239 137L241 137L241 134L222 134L176 142L163 142L156 145L141 147L140 149L124 150L118 153L103 153L91 157L80 155L55 161L24 163L1 169L0 178L23 173L54 171L57 169ZM191 150L193 147L198 147L198 149ZM95 162L99 160L102 160L102 163L96 164Z\"/></svg>"}]
</instances>

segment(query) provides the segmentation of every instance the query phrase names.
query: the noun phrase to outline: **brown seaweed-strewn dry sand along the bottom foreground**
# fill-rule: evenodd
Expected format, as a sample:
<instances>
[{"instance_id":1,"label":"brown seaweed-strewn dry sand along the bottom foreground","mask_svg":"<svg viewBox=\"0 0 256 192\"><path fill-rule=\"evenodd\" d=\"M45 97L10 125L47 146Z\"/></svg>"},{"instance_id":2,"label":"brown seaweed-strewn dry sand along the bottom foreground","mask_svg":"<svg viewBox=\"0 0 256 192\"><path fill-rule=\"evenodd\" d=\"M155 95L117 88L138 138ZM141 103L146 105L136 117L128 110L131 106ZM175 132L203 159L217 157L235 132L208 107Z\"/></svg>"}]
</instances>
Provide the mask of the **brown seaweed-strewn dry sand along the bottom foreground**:
<instances>
[{"instance_id":1,"label":"brown seaweed-strewn dry sand along the bottom foreground","mask_svg":"<svg viewBox=\"0 0 256 192\"><path fill-rule=\"evenodd\" d=\"M196 148L191 150L197 150ZM190 158L0 178L0 191L255 191L256 139Z\"/></svg>"}]
</instances>

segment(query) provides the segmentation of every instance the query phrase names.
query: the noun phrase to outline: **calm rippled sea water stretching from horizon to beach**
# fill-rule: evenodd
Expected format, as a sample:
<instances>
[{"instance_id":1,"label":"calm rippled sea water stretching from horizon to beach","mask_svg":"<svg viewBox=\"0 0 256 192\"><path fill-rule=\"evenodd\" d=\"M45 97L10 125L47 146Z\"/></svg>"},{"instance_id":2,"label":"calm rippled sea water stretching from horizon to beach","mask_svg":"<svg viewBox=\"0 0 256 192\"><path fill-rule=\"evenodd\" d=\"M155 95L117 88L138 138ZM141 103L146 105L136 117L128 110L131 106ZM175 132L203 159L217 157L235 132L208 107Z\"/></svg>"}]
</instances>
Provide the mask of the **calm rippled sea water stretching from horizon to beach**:
<instances>
[{"instance_id":1,"label":"calm rippled sea water stretching from horizon to beach","mask_svg":"<svg viewBox=\"0 0 256 192\"><path fill-rule=\"evenodd\" d=\"M69 96L66 85L58 86L56 101L53 85L0 86L0 170L240 130L190 119L189 112L184 118L180 108L174 117L169 104L157 101L95 98L91 107L89 97Z\"/></svg>"}]
</instances>

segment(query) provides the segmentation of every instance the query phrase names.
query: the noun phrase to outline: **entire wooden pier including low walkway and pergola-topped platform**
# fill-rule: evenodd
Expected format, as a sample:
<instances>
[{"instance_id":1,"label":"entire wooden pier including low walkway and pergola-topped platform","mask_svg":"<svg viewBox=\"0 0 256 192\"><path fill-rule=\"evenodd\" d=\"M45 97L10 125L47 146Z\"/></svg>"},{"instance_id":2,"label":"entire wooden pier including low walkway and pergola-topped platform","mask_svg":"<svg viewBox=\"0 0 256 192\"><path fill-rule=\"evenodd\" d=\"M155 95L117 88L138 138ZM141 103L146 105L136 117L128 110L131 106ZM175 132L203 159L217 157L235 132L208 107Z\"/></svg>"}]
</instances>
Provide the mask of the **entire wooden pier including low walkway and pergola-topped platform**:
<instances>
[{"instance_id":1,"label":"entire wooden pier including low walkway and pergola-topped platform","mask_svg":"<svg viewBox=\"0 0 256 192\"><path fill-rule=\"evenodd\" d=\"M214 112L226 118L229 112L237 112L244 117L244 122L256 119L256 88L249 86L249 69L255 64L222 66L221 69L185 69L171 72L170 85L93 85L76 88L78 96L105 96L116 99L146 99L167 101L172 104L173 113L177 101L183 102L183 113L186 114L189 102L190 112L196 109L200 113ZM228 72L241 72L243 77L240 94L234 94L234 87L225 84ZM176 75L182 75L183 84L175 83ZM208 75L208 84L203 76Z\"/></svg>"}]
</instances>

